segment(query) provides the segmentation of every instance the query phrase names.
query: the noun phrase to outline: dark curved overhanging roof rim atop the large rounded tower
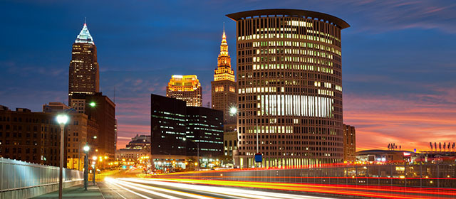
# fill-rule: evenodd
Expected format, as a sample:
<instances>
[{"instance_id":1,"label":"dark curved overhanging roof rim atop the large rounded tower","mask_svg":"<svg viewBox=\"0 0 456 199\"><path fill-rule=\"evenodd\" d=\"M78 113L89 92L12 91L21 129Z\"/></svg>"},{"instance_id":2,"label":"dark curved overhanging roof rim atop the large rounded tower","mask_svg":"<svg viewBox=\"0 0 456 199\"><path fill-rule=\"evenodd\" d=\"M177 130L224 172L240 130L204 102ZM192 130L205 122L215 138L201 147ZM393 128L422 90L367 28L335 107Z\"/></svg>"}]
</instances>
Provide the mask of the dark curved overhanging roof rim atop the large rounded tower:
<instances>
[{"instance_id":1,"label":"dark curved overhanging roof rim atop the large rounded tower","mask_svg":"<svg viewBox=\"0 0 456 199\"><path fill-rule=\"evenodd\" d=\"M343 21L341 18L332 16L329 14L324 14L316 11L306 11L298 9L262 9L254 11L242 11L234 14L227 14L227 17L232 18L234 21L238 21L245 18L254 18L260 16L299 16L303 18L313 18L318 20L326 21L327 23L332 23L339 28L348 28L350 25Z\"/></svg>"}]
</instances>

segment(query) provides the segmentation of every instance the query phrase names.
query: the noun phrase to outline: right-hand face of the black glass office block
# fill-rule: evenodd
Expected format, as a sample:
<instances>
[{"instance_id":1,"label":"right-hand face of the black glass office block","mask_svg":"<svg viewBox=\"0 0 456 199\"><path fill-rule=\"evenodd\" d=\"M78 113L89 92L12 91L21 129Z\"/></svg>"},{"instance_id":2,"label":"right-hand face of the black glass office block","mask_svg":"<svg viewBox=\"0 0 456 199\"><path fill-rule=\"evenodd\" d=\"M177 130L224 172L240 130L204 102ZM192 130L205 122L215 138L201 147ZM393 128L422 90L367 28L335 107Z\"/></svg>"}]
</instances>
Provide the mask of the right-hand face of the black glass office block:
<instances>
[{"instance_id":1,"label":"right-hand face of the black glass office block","mask_svg":"<svg viewBox=\"0 0 456 199\"><path fill-rule=\"evenodd\" d=\"M187 107L187 156L217 158L223 155L223 112Z\"/></svg>"}]
</instances>

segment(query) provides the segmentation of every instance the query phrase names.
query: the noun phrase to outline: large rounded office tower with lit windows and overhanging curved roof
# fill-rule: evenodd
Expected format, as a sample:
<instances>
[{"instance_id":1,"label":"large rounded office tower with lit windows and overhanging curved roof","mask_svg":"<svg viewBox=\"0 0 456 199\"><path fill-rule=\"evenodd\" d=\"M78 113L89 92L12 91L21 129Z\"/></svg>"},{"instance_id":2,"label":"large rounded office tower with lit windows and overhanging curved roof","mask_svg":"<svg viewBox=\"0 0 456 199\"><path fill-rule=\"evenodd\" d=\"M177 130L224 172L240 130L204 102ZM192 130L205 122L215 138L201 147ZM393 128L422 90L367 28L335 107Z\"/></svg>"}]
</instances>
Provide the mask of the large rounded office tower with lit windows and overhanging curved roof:
<instances>
[{"instance_id":1,"label":"large rounded office tower with lit windows and overhanging curved roof","mask_svg":"<svg viewBox=\"0 0 456 199\"><path fill-rule=\"evenodd\" d=\"M348 23L296 9L227 16L237 32L239 165L254 166L257 151L261 166L342 161L341 30Z\"/></svg>"}]
</instances>

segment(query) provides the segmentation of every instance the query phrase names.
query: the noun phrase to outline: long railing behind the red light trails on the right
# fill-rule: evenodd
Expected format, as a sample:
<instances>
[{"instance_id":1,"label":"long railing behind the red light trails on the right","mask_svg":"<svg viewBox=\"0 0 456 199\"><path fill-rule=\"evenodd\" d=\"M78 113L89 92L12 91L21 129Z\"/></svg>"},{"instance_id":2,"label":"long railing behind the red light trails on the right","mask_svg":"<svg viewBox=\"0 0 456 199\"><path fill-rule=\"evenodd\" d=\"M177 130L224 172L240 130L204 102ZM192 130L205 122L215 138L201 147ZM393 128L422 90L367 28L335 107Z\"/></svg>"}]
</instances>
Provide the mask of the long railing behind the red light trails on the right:
<instances>
[{"instance_id":1,"label":"long railing behind the red light trails on the right","mask_svg":"<svg viewBox=\"0 0 456 199\"><path fill-rule=\"evenodd\" d=\"M178 178L456 188L456 163L369 164L175 173Z\"/></svg>"}]
</instances>

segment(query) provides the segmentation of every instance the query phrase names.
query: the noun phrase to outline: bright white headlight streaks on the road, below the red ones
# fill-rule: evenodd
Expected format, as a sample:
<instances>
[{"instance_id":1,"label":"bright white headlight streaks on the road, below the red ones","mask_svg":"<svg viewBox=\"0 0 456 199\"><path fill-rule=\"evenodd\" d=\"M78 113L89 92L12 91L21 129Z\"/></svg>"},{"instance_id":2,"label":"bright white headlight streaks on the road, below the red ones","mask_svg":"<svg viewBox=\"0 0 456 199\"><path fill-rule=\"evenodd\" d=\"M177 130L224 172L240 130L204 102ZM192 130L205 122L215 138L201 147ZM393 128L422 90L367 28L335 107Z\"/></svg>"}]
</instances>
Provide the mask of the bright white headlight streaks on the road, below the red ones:
<instances>
[{"instance_id":1,"label":"bright white headlight streaks on the road, below the red ones","mask_svg":"<svg viewBox=\"0 0 456 199\"><path fill-rule=\"evenodd\" d=\"M200 185L161 181L150 178L105 178L98 187L105 199L110 198L255 198L255 199L314 199L329 198L303 193L277 193L276 190L255 190L253 188L232 188L214 185Z\"/></svg>"}]
</instances>

